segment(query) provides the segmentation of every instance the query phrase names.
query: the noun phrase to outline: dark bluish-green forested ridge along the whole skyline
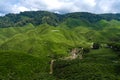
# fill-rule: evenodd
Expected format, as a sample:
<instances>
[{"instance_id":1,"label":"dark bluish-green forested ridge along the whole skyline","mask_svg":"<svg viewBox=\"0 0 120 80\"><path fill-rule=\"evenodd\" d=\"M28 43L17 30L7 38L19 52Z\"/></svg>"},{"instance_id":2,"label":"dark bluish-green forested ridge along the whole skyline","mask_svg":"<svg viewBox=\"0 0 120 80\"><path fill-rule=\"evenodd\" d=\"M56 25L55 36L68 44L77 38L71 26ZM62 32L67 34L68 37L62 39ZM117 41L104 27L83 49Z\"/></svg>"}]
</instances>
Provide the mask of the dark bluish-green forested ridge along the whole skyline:
<instances>
[{"instance_id":1,"label":"dark bluish-green forested ridge along the whole skyline","mask_svg":"<svg viewBox=\"0 0 120 80\"><path fill-rule=\"evenodd\" d=\"M76 26L80 26L81 24L78 22L91 25L103 19L107 21L120 21L120 14L92 14L88 12L57 14L48 11L26 11L19 14L10 13L0 17L0 27L23 26L28 23L32 23L33 25L47 23L52 26L57 26L65 21L68 22L71 20L71 22L73 22ZM71 24L68 24L68 26L69 25L71 26Z\"/></svg>"}]
</instances>

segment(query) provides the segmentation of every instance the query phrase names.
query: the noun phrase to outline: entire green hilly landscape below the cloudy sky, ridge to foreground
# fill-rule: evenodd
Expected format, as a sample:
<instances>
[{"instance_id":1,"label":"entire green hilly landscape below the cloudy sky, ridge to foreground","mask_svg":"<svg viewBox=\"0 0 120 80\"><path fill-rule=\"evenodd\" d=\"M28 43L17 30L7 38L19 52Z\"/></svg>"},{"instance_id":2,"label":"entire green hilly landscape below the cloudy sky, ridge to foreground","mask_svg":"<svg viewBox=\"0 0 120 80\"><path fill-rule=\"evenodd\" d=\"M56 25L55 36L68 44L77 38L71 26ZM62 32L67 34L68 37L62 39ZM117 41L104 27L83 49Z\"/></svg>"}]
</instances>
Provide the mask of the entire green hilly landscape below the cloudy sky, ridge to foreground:
<instances>
[{"instance_id":1,"label":"entire green hilly landscape below the cloudy sky, ridge to foreground","mask_svg":"<svg viewBox=\"0 0 120 80\"><path fill-rule=\"evenodd\" d=\"M0 80L120 80L119 67L120 14L0 17Z\"/></svg>"}]
</instances>

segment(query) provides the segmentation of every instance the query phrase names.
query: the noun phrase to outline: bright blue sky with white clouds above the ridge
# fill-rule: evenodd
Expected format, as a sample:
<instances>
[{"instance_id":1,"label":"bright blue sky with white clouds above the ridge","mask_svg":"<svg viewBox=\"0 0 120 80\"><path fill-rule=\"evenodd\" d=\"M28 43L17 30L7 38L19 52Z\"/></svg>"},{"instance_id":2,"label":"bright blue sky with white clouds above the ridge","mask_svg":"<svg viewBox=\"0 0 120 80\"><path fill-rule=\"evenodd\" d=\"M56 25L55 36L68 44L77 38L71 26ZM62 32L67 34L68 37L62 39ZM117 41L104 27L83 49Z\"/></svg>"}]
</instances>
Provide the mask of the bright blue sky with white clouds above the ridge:
<instances>
[{"instance_id":1,"label":"bright blue sky with white clouds above the ridge","mask_svg":"<svg viewBox=\"0 0 120 80\"><path fill-rule=\"evenodd\" d=\"M120 13L120 0L0 0L0 16L45 10L55 13Z\"/></svg>"}]
</instances>

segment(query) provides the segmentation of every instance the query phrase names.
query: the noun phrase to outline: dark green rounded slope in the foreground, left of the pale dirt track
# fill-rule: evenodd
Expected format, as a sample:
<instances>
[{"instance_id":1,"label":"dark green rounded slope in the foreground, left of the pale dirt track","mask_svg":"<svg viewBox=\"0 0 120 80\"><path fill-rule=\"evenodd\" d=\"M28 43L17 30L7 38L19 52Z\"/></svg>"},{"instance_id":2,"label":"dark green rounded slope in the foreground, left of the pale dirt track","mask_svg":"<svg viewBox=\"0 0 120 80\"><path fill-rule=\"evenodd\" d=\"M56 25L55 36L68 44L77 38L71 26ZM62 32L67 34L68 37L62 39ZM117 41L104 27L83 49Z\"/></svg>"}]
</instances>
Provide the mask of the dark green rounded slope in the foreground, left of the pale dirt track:
<instances>
[{"instance_id":1,"label":"dark green rounded slope in the foreground, left of the pale dirt track","mask_svg":"<svg viewBox=\"0 0 120 80\"><path fill-rule=\"evenodd\" d=\"M22 52L0 52L0 80L55 80L48 64Z\"/></svg>"}]
</instances>

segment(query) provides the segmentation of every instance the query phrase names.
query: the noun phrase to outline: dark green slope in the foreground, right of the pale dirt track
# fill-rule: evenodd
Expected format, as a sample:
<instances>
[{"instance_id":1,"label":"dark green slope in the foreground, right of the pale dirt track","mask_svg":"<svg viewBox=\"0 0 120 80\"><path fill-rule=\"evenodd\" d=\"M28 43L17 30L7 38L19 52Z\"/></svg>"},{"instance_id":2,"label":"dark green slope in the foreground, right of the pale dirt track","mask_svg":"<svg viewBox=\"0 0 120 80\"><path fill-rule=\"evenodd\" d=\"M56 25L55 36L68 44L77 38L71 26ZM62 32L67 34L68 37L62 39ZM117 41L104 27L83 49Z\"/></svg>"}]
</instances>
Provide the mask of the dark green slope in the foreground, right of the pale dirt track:
<instances>
[{"instance_id":1,"label":"dark green slope in the foreground, right of the pale dirt track","mask_svg":"<svg viewBox=\"0 0 120 80\"><path fill-rule=\"evenodd\" d=\"M54 76L63 80L119 80L119 59L109 52L109 49L93 50L83 60L58 60Z\"/></svg>"}]
</instances>

